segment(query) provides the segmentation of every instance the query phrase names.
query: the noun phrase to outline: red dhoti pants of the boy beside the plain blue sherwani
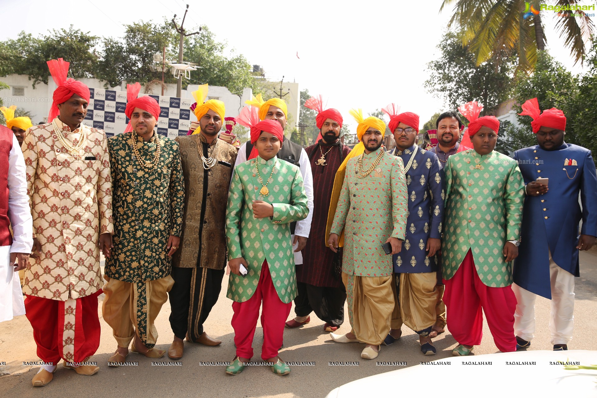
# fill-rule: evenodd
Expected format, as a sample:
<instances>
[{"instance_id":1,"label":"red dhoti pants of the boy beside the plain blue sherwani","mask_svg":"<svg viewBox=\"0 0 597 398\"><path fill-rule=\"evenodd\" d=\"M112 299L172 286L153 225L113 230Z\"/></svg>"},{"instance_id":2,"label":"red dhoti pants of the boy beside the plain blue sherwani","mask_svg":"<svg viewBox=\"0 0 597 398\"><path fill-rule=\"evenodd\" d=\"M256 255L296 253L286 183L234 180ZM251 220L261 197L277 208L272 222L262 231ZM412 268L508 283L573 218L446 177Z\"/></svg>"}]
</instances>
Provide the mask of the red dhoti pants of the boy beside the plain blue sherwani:
<instances>
[{"instance_id":1,"label":"red dhoti pants of the boy beside the plain blue sherwani","mask_svg":"<svg viewBox=\"0 0 597 398\"><path fill-rule=\"evenodd\" d=\"M516 351L516 297L512 286L490 288L484 285L475 269L470 249L452 279L444 279L444 285L448 329L459 344L481 344L485 311L497 348L504 353Z\"/></svg>"}]
</instances>

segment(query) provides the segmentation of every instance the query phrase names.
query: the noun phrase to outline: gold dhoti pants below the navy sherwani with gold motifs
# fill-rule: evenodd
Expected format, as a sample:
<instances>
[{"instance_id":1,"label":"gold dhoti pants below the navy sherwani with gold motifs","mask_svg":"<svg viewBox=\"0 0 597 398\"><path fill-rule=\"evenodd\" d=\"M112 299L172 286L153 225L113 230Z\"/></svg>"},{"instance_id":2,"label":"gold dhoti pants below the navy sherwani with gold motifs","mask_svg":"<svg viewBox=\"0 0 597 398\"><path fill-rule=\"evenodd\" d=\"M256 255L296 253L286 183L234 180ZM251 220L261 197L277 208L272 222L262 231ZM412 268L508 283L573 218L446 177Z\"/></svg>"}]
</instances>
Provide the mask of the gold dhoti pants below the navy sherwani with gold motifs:
<instances>
[{"instance_id":1,"label":"gold dhoti pants below the navy sherwani with gold motifs","mask_svg":"<svg viewBox=\"0 0 597 398\"><path fill-rule=\"evenodd\" d=\"M393 282L395 307L392 312L392 329L400 329L403 322L415 332L433 326L438 300L435 272L393 274Z\"/></svg>"}]
</instances>

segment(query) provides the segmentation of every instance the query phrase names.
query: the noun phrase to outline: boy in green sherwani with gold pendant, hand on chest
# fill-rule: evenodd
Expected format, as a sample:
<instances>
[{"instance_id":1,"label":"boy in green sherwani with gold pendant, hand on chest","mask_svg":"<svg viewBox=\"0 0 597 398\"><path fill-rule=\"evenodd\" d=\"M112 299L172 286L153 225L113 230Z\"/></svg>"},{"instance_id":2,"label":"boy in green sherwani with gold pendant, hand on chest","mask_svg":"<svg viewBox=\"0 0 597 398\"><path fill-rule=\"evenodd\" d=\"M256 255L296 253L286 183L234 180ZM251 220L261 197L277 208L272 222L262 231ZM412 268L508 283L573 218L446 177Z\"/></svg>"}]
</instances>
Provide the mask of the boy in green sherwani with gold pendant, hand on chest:
<instances>
[{"instance_id":1,"label":"boy in green sherwani with gold pendant, hand on chest","mask_svg":"<svg viewBox=\"0 0 597 398\"><path fill-rule=\"evenodd\" d=\"M236 356L226 373L236 375L253 357L253 336L263 301L261 358L275 374L290 373L279 358L284 323L297 295L290 223L309 214L300 169L276 158L284 130L275 120L259 121L245 107L237 121L251 128L247 162L236 166L226 211L229 267L227 297L233 300Z\"/></svg>"}]
</instances>

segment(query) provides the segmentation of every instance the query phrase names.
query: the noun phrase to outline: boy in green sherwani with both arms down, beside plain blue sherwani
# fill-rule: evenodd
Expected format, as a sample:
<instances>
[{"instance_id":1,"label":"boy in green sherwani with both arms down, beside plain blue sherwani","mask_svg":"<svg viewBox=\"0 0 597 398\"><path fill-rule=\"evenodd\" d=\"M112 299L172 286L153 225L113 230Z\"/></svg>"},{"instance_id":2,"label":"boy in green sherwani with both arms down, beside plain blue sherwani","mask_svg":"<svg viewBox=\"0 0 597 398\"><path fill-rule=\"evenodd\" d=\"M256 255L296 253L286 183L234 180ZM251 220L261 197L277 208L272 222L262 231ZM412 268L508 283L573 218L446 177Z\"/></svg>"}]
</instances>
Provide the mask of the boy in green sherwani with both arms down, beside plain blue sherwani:
<instances>
[{"instance_id":1,"label":"boy in green sherwani with both arms down, beside plain blue sherwani","mask_svg":"<svg viewBox=\"0 0 597 398\"><path fill-rule=\"evenodd\" d=\"M450 156L444 168L442 273L456 356L481 344L483 313L497 348L516 350L512 260L518 256L524 182L518 163L494 151L500 122L479 118L482 109L476 102L458 108L470 121L475 149Z\"/></svg>"}]
</instances>

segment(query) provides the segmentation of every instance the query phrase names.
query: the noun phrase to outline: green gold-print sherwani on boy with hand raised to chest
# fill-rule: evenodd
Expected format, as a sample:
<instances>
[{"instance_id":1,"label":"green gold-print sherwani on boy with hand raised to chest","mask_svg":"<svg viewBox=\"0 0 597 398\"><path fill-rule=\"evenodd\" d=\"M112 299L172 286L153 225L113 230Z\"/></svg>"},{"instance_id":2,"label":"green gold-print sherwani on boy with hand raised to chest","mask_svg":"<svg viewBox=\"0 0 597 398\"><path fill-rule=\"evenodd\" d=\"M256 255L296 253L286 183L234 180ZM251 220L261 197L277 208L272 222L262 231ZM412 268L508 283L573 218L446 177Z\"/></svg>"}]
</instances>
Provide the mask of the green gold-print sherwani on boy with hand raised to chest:
<instances>
[{"instance_id":1,"label":"green gold-print sherwani on boy with hand raised to chest","mask_svg":"<svg viewBox=\"0 0 597 398\"><path fill-rule=\"evenodd\" d=\"M266 181L269 195L262 196L256 169ZM272 171L273 168L273 171ZM256 218L251 203L263 200L273 205L273 217ZM297 295L294 252L290 239L290 223L309 214L307 195L300 169L276 157L265 161L260 156L236 166L226 210L228 258L247 260L248 274L230 274L227 297L238 303L251 298L259 282L261 265L269 264L272 282L282 303L290 303Z\"/></svg>"}]
</instances>

